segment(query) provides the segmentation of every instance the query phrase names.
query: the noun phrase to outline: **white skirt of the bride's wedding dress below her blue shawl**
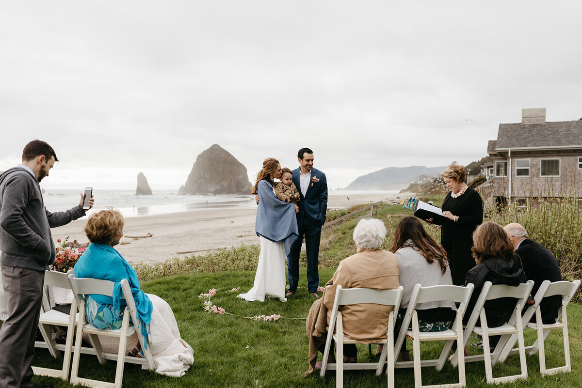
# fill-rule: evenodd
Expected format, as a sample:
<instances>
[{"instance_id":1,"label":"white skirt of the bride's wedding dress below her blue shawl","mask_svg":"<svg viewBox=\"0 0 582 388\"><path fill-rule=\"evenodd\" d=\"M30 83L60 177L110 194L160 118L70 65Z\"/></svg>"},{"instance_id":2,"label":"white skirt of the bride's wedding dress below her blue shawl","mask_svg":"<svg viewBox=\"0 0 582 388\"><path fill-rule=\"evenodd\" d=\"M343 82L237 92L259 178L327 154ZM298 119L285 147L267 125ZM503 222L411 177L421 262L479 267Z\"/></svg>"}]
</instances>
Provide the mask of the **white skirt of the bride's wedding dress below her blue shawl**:
<instances>
[{"instance_id":1,"label":"white skirt of the bride's wedding dress below her blue shawl","mask_svg":"<svg viewBox=\"0 0 582 388\"><path fill-rule=\"evenodd\" d=\"M258 256L257 274L253 288L249 292L239 294L244 300L260 300L265 298L278 298L282 302L285 298L285 243L272 242L259 236L261 240L261 253Z\"/></svg>"}]
</instances>

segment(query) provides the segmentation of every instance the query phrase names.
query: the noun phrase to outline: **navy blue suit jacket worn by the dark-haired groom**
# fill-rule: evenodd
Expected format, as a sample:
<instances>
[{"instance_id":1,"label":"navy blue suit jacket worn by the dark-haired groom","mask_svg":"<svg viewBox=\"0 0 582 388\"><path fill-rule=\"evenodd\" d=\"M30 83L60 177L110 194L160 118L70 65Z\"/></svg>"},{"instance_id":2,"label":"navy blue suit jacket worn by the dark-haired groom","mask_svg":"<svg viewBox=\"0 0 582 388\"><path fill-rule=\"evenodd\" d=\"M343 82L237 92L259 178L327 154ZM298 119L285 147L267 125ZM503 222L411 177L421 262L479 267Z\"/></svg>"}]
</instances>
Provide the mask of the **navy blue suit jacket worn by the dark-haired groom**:
<instances>
[{"instance_id":1,"label":"navy blue suit jacket worn by the dark-haired groom","mask_svg":"<svg viewBox=\"0 0 582 388\"><path fill-rule=\"evenodd\" d=\"M311 179L319 179L318 182L310 182L305 196L301 193L299 183L299 168L293 170L293 183L299 191L299 211L297 212L297 227L321 228L325 222L327 212L327 179L320 170L311 168Z\"/></svg>"}]
</instances>

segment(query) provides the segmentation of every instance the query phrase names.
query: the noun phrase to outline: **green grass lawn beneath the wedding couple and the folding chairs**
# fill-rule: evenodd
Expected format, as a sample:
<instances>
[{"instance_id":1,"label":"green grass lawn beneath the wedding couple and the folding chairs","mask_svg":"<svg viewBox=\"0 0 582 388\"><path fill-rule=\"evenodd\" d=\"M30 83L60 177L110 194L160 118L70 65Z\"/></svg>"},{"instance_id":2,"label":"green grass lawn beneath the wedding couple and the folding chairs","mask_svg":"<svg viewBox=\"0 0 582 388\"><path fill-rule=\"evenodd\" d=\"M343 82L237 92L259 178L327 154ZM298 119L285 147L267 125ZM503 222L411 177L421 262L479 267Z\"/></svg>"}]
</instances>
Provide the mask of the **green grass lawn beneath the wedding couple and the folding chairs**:
<instances>
[{"instance_id":1,"label":"green grass lawn beneath the wedding couple and the folding chairs","mask_svg":"<svg viewBox=\"0 0 582 388\"><path fill-rule=\"evenodd\" d=\"M443 196L431 196L423 200L434 200L439 205ZM354 209L352 209L354 210ZM333 217L346 214L336 211ZM412 215L410 209L401 205L384 204L378 207L376 218L384 221L387 229L384 249L392 245L394 228L400 219ZM364 215L365 217L365 215ZM320 284L327 282L339 262L356 252L352 240L353 229L361 217L354 216L333 230L322 235L320 249ZM427 231L440 241L438 227L425 224ZM145 292L157 294L168 301L176 315L182 338L194 349L194 365L182 378L166 378L154 372L142 371L137 365L126 364L123 385L126 387L333 387L335 373L328 372L325 379L319 374L304 377L307 370L308 340L304 318L313 303L307 293L305 276L305 253L301 254L301 282L298 293L286 303L267 300L264 303L247 302L236 298L237 293L225 292L240 287L246 292L253 285L254 270L258 260L258 246L241 246L236 249L208 252L183 260L166 261L155 265L137 265L136 271ZM276 322L253 321L231 315L218 315L203 310L204 299L198 295L209 289L218 290L212 303L225 308L226 312L242 317L279 314ZM582 306L570 304L568 307L570 329L570 353L572 372L541 377L538 355L527 356L529 378L525 381L509 383L508 387L578 387L581 386L582 355ZM535 340L535 332L526 330L526 344ZM476 339L470 342L475 342ZM440 348L439 348L440 346ZM411 344L409 344L411 349ZM442 343L421 345L424 358L436 358ZM480 350L469 347L471 354ZM548 368L563 365L562 334L554 330L546 341L546 365ZM3 356L3 355L2 355ZM368 357L367 346L361 346L360 361ZM54 360L46 350L38 350L34 365L59 367L60 360ZM80 376L113 381L115 363L109 361L100 365L95 357L81 355ZM485 387L485 367L483 362L466 365L467 386ZM519 357L513 355L505 363L494 367L494 376L519 373ZM457 370L449 364L441 372L434 368L423 368L423 383L439 384L457 382ZM52 384L55 387L70 387L59 379L36 377L38 384ZM347 387L384 387L386 376L376 377L374 371L345 372ZM411 369L396 370L397 387L413 387L414 375Z\"/></svg>"}]
</instances>

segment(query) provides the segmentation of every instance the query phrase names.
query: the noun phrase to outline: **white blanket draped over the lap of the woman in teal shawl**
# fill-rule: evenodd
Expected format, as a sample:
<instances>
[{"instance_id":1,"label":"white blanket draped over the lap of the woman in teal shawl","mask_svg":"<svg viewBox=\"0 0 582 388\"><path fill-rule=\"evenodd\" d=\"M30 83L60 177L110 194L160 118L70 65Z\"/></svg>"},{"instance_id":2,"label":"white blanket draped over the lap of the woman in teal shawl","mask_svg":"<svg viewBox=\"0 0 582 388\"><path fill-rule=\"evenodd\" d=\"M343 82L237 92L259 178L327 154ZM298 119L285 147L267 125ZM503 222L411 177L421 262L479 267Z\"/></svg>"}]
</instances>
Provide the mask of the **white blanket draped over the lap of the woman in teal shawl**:
<instances>
[{"instance_id":1,"label":"white blanket draped over the lap of the woman in teal shawl","mask_svg":"<svg viewBox=\"0 0 582 388\"><path fill-rule=\"evenodd\" d=\"M194 351L180 338L180 330L169 304L156 295L147 296L154 306L148 346L154 356L155 372L172 377L183 376L194 363Z\"/></svg>"}]
</instances>

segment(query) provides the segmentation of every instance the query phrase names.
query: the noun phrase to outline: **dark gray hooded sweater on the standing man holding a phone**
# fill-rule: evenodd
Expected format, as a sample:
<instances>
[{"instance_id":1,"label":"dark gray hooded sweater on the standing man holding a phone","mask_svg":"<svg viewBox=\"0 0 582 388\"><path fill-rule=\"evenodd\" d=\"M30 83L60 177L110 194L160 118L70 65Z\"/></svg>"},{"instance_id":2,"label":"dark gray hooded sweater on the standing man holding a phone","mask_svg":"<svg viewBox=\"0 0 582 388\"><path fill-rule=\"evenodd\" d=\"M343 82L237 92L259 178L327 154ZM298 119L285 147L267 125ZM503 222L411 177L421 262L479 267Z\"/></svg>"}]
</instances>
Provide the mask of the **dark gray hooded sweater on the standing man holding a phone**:
<instances>
[{"instance_id":1,"label":"dark gray hooded sweater on the standing man holding a phone","mask_svg":"<svg viewBox=\"0 0 582 388\"><path fill-rule=\"evenodd\" d=\"M0 175L0 263L48 270L56 257L51 228L83 215L80 205L58 213L47 211L33 175L22 167L6 170Z\"/></svg>"}]
</instances>

